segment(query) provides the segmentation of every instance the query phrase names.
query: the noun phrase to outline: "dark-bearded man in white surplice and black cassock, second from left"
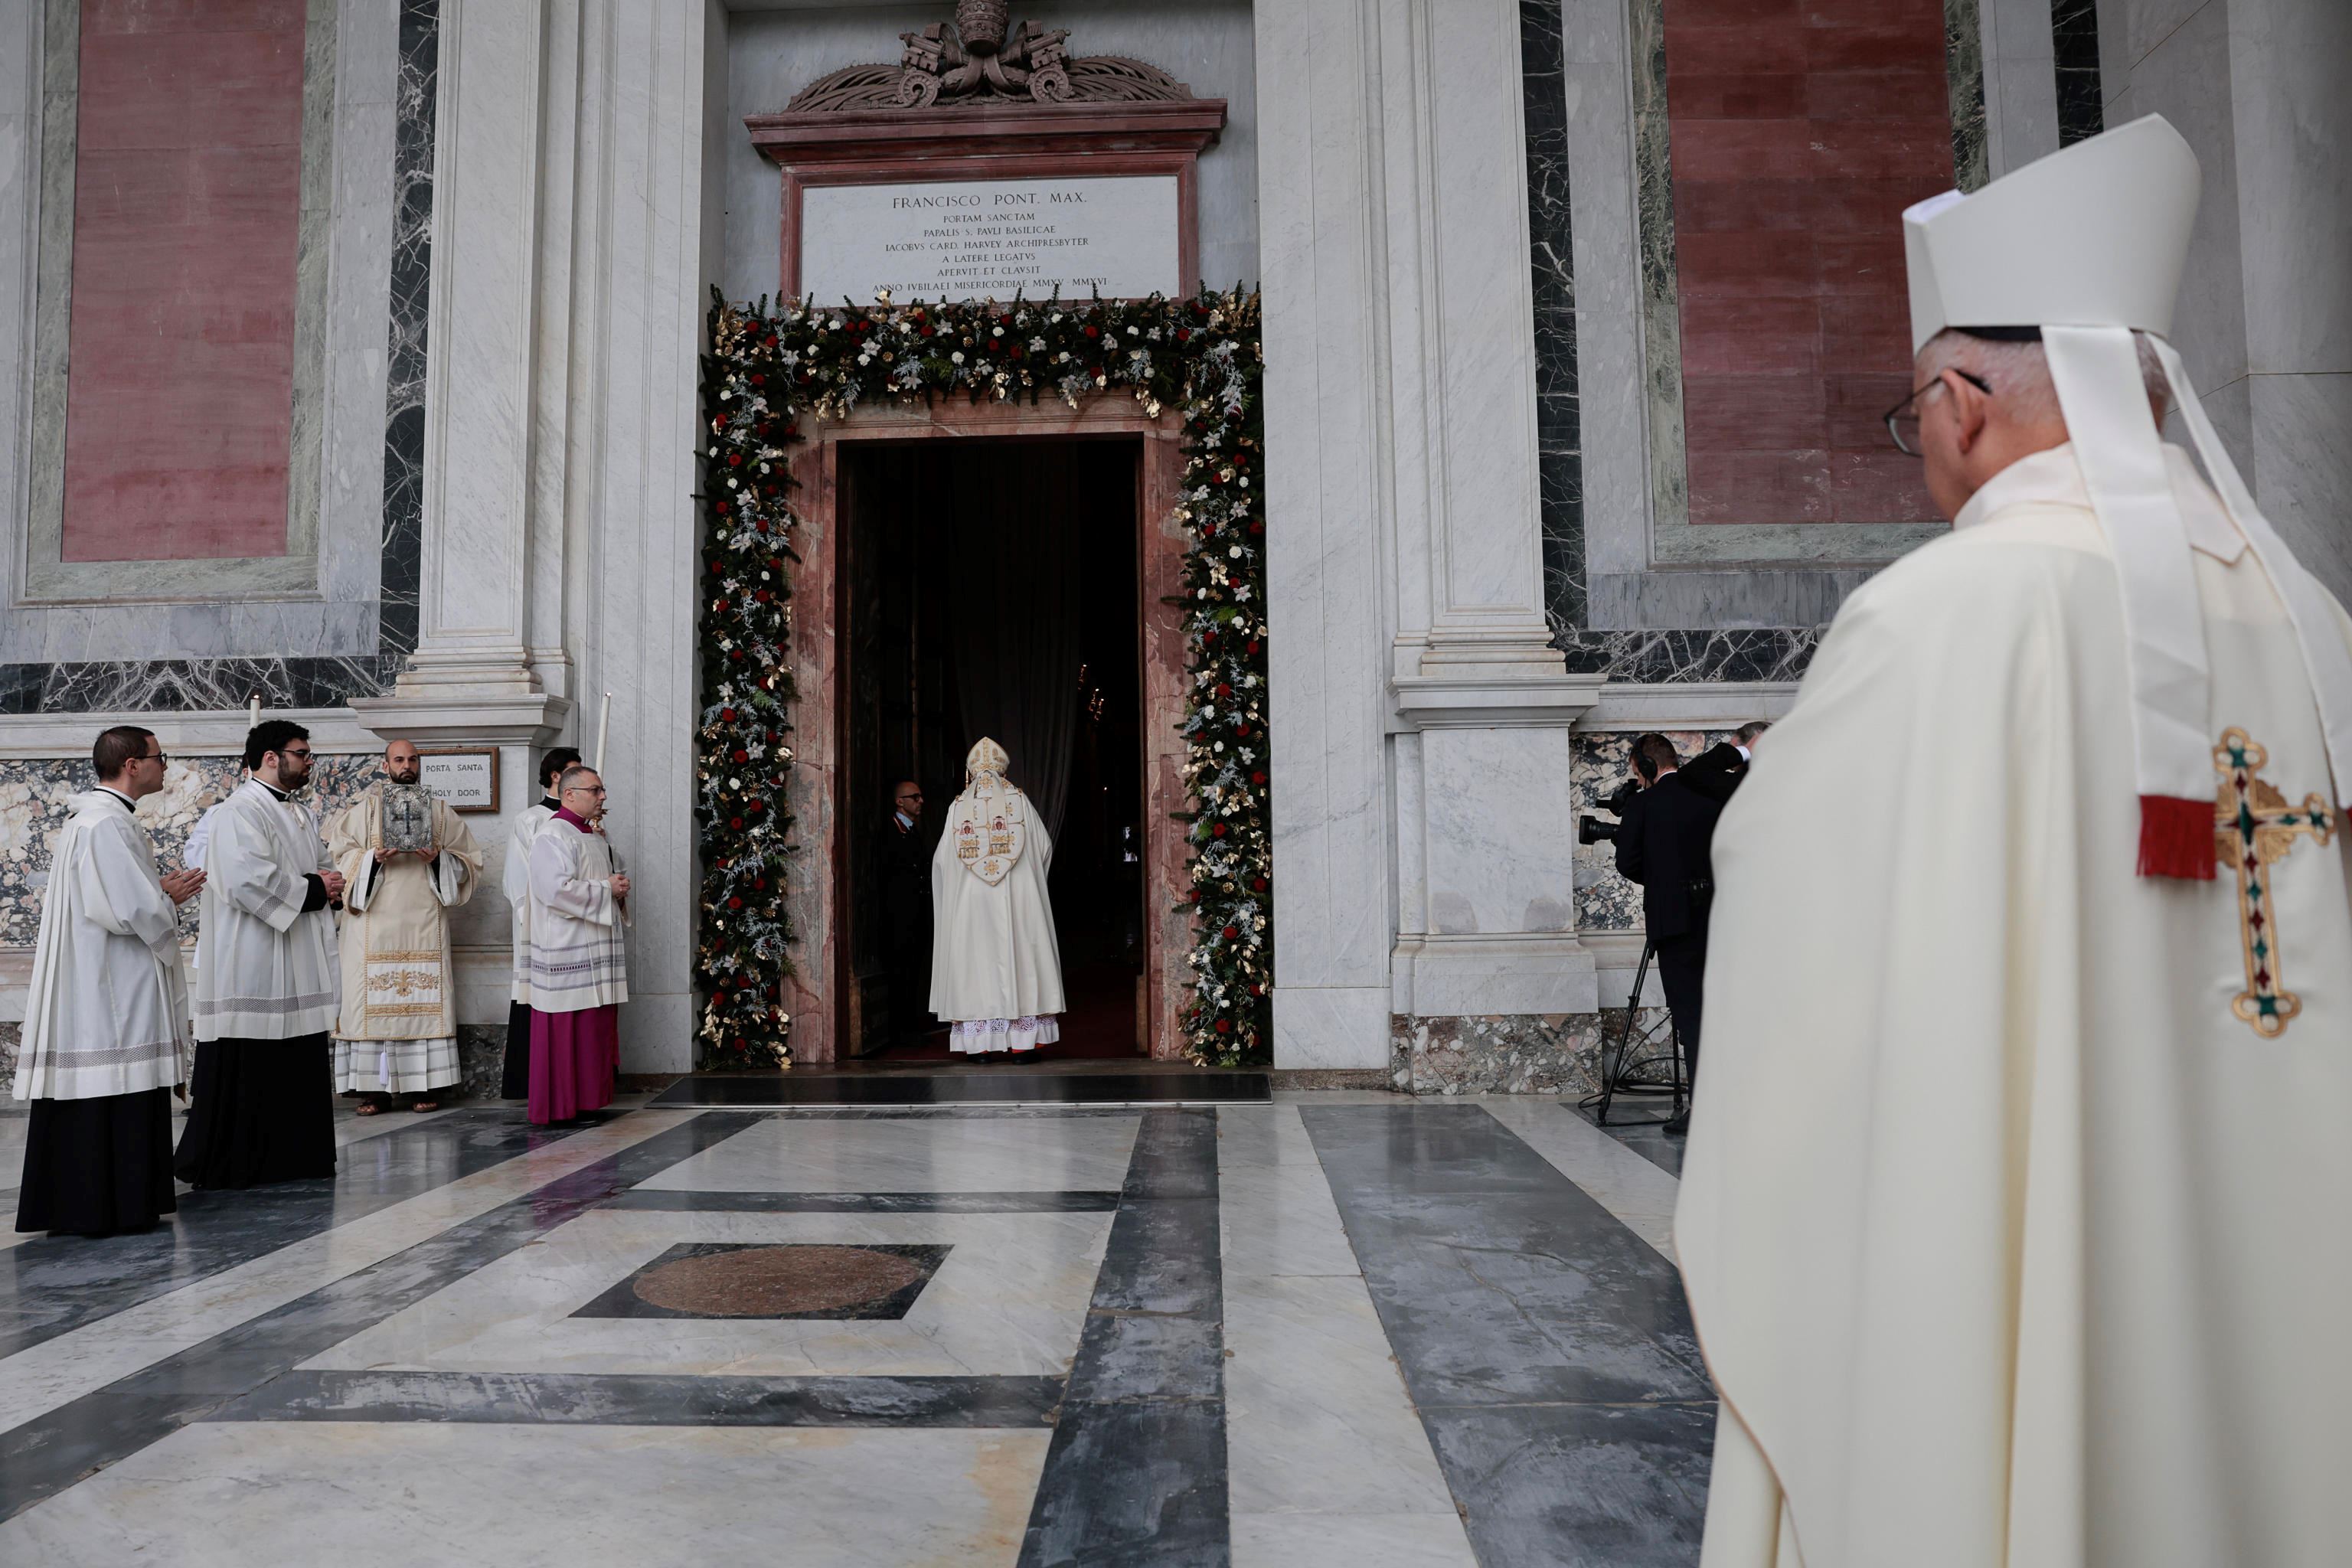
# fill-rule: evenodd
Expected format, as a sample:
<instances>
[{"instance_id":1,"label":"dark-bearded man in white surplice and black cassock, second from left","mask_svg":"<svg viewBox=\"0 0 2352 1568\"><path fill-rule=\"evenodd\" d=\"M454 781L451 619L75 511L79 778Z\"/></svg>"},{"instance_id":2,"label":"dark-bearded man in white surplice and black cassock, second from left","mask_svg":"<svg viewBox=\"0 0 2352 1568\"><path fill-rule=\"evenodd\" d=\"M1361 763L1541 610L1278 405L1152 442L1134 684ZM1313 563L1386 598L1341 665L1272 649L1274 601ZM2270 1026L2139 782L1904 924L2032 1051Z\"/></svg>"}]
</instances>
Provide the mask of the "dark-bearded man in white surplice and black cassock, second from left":
<instances>
[{"instance_id":1,"label":"dark-bearded man in white surplice and black cassock, second from left","mask_svg":"<svg viewBox=\"0 0 2352 1568\"><path fill-rule=\"evenodd\" d=\"M310 783L310 731L256 724L245 766L249 778L212 818L198 905L195 1072L174 1159L193 1187L334 1175L329 905L343 875L294 799Z\"/></svg>"}]
</instances>

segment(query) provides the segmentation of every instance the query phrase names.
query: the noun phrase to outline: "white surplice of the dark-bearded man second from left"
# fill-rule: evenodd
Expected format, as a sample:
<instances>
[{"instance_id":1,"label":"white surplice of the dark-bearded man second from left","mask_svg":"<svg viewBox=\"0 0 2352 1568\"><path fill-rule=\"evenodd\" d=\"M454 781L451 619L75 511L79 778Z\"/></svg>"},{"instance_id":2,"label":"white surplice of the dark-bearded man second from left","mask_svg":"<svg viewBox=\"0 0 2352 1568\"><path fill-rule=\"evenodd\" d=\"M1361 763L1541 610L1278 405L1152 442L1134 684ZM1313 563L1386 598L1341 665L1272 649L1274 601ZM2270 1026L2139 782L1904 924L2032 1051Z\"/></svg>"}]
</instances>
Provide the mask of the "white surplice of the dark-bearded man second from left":
<instances>
[{"instance_id":1,"label":"white surplice of the dark-bearded man second from left","mask_svg":"<svg viewBox=\"0 0 2352 1568\"><path fill-rule=\"evenodd\" d=\"M315 818L247 778L205 846L195 938L198 1039L299 1039L336 1020L334 912L303 912L303 877L332 870Z\"/></svg>"}]
</instances>

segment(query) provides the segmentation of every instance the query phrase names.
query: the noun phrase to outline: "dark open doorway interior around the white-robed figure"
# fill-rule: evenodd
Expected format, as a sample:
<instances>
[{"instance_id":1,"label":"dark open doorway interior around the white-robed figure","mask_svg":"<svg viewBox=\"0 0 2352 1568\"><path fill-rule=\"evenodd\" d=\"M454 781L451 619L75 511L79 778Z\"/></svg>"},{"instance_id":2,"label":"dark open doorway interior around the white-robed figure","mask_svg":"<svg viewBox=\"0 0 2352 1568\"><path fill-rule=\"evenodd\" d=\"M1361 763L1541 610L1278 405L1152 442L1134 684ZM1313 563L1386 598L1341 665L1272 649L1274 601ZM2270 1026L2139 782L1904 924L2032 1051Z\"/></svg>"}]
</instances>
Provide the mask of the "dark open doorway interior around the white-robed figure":
<instances>
[{"instance_id":1,"label":"dark open doorway interior around the white-robed figure","mask_svg":"<svg viewBox=\"0 0 2352 1568\"><path fill-rule=\"evenodd\" d=\"M1141 456L1122 437L844 442L842 1056L950 1058L917 914L981 736L1054 844L1068 1009L1018 1060L1145 1048ZM922 811L901 832L908 780Z\"/></svg>"}]
</instances>

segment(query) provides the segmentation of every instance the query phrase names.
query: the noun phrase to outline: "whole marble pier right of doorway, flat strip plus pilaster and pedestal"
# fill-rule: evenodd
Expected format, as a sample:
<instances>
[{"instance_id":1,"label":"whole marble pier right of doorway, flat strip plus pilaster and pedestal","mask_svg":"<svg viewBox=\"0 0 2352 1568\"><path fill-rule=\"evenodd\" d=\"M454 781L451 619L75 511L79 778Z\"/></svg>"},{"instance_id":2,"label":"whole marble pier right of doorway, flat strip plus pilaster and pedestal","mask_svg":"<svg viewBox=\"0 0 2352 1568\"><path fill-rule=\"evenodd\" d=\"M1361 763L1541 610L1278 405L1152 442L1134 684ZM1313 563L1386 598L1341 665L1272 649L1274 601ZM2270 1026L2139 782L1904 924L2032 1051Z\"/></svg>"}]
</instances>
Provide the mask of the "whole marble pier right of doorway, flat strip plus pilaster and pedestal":
<instances>
[{"instance_id":1,"label":"whole marble pier right of doorway, flat strip plus pilaster and pedestal","mask_svg":"<svg viewBox=\"0 0 2352 1568\"><path fill-rule=\"evenodd\" d=\"M1519 7L1261 7L1256 59L1275 1065L1381 1067L1395 1013L1592 1009L1566 757L1599 684L1543 618ZM1496 778L1510 813L1468 813Z\"/></svg>"}]
</instances>

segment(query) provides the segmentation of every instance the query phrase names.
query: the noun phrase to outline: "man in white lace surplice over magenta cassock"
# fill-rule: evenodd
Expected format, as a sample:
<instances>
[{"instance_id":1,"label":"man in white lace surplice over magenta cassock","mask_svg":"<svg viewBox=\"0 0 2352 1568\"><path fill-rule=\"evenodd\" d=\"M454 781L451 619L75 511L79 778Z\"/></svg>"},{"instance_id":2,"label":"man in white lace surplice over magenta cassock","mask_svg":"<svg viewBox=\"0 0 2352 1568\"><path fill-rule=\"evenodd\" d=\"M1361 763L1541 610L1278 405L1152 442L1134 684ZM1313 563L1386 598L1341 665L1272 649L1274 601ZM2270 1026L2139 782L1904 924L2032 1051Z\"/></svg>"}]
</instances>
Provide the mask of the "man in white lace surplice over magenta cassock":
<instances>
[{"instance_id":1,"label":"man in white lace surplice over magenta cassock","mask_svg":"<svg viewBox=\"0 0 2352 1568\"><path fill-rule=\"evenodd\" d=\"M572 764L562 806L532 837L529 1119L569 1121L612 1103L628 1001L628 875L604 820L604 780Z\"/></svg>"}]
</instances>

